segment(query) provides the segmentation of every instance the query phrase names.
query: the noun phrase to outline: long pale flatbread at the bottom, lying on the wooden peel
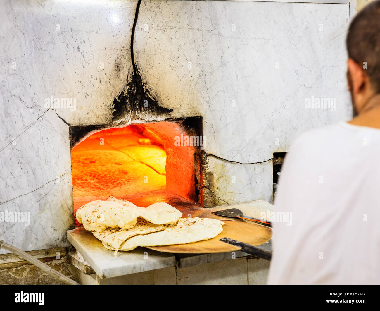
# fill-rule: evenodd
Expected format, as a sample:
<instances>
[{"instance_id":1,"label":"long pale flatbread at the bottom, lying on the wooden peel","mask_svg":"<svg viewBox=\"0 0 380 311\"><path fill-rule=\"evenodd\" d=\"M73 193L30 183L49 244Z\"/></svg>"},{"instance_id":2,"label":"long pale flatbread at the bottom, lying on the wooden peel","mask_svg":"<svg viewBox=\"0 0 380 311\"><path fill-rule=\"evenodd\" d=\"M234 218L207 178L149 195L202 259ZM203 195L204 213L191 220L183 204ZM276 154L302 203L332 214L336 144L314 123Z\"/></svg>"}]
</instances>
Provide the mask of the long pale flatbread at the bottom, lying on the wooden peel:
<instances>
[{"instance_id":1,"label":"long pale flatbread at the bottom, lying on the wooden peel","mask_svg":"<svg viewBox=\"0 0 380 311\"><path fill-rule=\"evenodd\" d=\"M165 230L145 235L135 235L122 244L119 251L131 251L138 246L186 244L215 238L223 231L224 222L214 218L180 218ZM107 249L115 249L103 241Z\"/></svg>"}]
</instances>

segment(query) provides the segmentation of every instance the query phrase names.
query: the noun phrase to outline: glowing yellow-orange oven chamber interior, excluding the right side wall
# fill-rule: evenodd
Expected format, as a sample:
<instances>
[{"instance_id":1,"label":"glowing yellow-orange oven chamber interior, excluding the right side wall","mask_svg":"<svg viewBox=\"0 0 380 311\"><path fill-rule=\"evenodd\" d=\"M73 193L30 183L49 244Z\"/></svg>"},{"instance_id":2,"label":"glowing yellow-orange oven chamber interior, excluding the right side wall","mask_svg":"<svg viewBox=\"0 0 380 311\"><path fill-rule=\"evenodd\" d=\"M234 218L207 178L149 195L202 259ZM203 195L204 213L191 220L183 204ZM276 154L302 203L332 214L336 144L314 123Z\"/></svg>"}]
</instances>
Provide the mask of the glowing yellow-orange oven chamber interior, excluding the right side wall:
<instances>
[{"instance_id":1,"label":"glowing yellow-orange oven chamber interior, excluding the right side wall","mask_svg":"<svg viewBox=\"0 0 380 311\"><path fill-rule=\"evenodd\" d=\"M162 140L147 129L97 132L71 151L74 202L165 190L165 164Z\"/></svg>"}]
</instances>

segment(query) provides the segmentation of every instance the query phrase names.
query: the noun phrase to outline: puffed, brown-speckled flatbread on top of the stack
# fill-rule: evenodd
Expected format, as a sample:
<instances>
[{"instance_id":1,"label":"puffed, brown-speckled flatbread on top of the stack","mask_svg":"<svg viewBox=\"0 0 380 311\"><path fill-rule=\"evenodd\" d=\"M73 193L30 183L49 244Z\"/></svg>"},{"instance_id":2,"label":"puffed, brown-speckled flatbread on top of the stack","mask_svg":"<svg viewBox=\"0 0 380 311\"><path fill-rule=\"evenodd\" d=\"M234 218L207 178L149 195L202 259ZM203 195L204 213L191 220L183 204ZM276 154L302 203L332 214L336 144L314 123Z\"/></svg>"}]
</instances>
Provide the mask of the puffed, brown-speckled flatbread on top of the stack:
<instances>
[{"instance_id":1,"label":"puffed, brown-speckled flatbread on top of the stack","mask_svg":"<svg viewBox=\"0 0 380 311\"><path fill-rule=\"evenodd\" d=\"M138 217L156 225L163 225L177 222L182 213L164 202L144 208L114 197L109 197L107 201L96 200L86 203L76 211L76 219L84 228L97 232L102 232L108 227L125 230L133 228Z\"/></svg>"}]
</instances>

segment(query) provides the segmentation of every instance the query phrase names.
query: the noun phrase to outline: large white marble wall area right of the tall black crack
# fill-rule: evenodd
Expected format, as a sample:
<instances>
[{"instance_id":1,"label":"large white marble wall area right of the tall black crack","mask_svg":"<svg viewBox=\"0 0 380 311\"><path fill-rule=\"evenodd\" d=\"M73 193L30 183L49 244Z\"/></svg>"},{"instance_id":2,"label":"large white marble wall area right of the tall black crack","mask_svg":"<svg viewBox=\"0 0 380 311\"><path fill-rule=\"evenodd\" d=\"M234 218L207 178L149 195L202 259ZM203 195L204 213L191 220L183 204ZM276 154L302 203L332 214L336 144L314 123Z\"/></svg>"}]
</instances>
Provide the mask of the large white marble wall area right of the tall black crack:
<instances>
[{"instance_id":1,"label":"large white marble wall area right of the tall black crack","mask_svg":"<svg viewBox=\"0 0 380 311\"><path fill-rule=\"evenodd\" d=\"M350 118L349 17L348 4L143 1L135 59L173 117L203 116L207 153L263 162ZM336 98L337 110L306 109L311 96Z\"/></svg>"}]
</instances>

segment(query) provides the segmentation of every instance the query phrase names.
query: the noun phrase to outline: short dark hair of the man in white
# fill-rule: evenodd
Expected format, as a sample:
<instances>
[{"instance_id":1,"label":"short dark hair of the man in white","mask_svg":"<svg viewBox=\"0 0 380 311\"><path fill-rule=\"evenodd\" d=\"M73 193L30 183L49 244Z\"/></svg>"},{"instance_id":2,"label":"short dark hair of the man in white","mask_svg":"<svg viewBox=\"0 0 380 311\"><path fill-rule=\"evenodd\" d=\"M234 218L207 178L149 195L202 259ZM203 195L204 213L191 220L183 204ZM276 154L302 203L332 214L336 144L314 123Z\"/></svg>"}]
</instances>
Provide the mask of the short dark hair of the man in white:
<instances>
[{"instance_id":1,"label":"short dark hair of the man in white","mask_svg":"<svg viewBox=\"0 0 380 311\"><path fill-rule=\"evenodd\" d=\"M380 0L365 6L348 29L348 57L363 66L376 93L380 93Z\"/></svg>"}]
</instances>

